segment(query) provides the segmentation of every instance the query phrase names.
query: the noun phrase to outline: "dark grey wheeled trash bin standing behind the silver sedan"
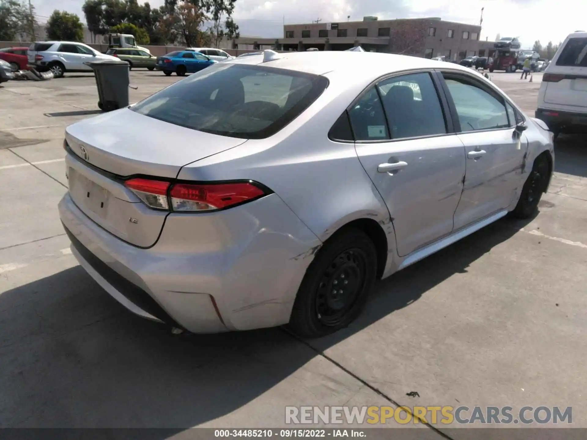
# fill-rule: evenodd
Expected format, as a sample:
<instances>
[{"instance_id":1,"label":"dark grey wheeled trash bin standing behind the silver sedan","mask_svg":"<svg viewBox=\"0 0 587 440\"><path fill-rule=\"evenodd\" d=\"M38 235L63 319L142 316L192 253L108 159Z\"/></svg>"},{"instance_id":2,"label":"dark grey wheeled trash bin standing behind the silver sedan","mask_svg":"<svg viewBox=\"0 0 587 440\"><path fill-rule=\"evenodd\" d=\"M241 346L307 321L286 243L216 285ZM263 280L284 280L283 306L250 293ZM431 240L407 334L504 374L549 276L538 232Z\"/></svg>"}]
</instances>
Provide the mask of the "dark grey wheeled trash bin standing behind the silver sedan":
<instances>
[{"instance_id":1,"label":"dark grey wheeled trash bin standing behind the silver sedan","mask_svg":"<svg viewBox=\"0 0 587 440\"><path fill-rule=\"evenodd\" d=\"M98 107L112 111L129 105L129 63L118 60L88 61L92 67L98 87Z\"/></svg>"}]
</instances>

